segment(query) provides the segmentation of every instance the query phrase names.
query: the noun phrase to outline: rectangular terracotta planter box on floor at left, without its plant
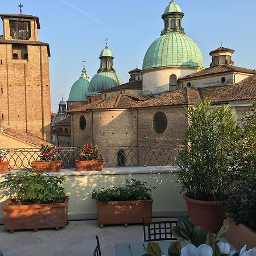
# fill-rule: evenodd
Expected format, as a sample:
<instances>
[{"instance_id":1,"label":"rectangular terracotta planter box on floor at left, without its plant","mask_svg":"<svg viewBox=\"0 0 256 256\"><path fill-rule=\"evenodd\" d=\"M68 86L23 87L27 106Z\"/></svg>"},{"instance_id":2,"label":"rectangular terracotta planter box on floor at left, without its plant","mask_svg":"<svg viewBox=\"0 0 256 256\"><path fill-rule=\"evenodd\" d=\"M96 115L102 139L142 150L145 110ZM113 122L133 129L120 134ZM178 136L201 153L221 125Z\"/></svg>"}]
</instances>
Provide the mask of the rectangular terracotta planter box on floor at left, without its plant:
<instances>
[{"instance_id":1,"label":"rectangular terracotta planter box on floor at left, without its plant","mask_svg":"<svg viewBox=\"0 0 256 256\"><path fill-rule=\"evenodd\" d=\"M18 229L63 228L68 221L68 196L64 203L3 205L4 229L11 233Z\"/></svg>"}]
</instances>

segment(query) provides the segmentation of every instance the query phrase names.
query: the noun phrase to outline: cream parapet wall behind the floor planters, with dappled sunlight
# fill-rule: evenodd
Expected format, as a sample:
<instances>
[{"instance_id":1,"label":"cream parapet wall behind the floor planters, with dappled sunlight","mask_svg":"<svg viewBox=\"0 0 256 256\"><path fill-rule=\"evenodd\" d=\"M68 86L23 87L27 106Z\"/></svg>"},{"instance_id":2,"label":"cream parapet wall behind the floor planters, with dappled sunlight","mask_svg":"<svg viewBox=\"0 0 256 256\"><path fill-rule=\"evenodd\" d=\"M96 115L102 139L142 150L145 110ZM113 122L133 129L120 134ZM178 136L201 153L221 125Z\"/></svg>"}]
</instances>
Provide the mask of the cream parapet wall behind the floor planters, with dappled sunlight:
<instances>
[{"instance_id":1,"label":"cream parapet wall behind the floor planters, with dappled sunlight","mask_svg":"<svg viewBox=\"0 0 256 256\"><path fill-rule=\"evenodd\" d=\"M102 171L77 172L74 169L61 169L49 175L65 176L65 193L69 196L69 220L97 219L96 202L92 200L92 191L97 188L110 188L123 185L127 179L146 181L153 187L153 217L180 216L187 214L187 205L180 194L180 187L175 182L179 168L161 167L123 167L104 168ZM0 182L5 175L0 175ZM0 191L0 198L3 191ZM0 206L7 201L0 199ZM3 224L3 213L0 212L0 224Z\"/></svg>"}]
</instances>

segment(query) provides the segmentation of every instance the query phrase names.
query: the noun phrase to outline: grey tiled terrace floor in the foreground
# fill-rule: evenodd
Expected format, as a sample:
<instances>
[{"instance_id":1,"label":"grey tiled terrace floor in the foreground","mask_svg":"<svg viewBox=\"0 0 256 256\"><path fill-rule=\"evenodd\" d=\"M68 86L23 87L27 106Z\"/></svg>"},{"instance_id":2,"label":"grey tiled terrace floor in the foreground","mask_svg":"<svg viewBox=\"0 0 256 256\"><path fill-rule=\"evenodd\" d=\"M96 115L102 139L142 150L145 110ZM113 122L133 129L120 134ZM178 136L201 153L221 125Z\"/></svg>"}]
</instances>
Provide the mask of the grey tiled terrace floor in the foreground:
<instances>
[{"instance_id":1,"label":"grey tiled terrace floor in the foreground","mask_svg":"<svg viewBox=\"0 0 256 256\"><path fill-rule=\"evenodd\" d=\"M153 218L168 220L168 218ZM54 229L38 232L5 232L0 225L0 250L4 256L92 256L96 247L95 236L100 239L102 256L114 256L114 244L143 241L143 226L105 226L100 229L97 221L70 221L59 231Z\"/></svg>"}]
</instances>

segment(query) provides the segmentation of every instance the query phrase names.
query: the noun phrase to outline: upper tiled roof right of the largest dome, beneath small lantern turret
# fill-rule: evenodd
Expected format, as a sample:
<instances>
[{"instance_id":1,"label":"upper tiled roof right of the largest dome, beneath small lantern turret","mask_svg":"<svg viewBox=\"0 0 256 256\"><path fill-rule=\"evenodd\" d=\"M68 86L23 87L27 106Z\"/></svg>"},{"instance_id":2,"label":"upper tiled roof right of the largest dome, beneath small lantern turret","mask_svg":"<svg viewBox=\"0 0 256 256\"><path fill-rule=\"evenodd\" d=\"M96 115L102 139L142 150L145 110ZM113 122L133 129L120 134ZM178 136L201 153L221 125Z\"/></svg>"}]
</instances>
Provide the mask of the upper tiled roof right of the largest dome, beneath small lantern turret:
<instances>
[{"instance_id":1,"label":"upper tiled roof right of the largest dome, beneath small lantern turret","mask_svg":"<svg viewBox=\"0 0 256 256\"><path fill-rule=\"evenodd\" d=\"M233 65L218 65L210 68L205 68L201 71L189 74L188 76L183 76L179 80L191 79L193 77L216 75L217 73L230 73L230 72L240 72L248 74L256 74L255 70L248 68L240 68Z\"/></svg>"}]
</instances>

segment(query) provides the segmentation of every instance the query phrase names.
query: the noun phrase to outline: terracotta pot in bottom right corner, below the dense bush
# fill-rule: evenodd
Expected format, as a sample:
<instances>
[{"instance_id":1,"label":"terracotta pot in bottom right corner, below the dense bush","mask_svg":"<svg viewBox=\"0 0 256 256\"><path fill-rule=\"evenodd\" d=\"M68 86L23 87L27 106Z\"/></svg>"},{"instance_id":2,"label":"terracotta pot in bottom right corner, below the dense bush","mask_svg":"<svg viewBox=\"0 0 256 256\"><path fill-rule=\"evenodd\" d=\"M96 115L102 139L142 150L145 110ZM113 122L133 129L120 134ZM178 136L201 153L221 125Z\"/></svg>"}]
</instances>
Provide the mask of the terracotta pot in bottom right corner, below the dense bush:
<instances>
[{"instance_id":1,"label":"terracotta pot in bottom right corner, below the dense bush","mask_svg":"<svg viewBox=\"0 0 256 256\"><path fill-rule=\"evenodd\" d=\"M228 218L227 222L229 229L225 234L225 238L236 247L237 250L244 245L247 245L246 250L256 247L256 232L243 224L236 225L232 218Z\"/></svg>"}]
</instances>

